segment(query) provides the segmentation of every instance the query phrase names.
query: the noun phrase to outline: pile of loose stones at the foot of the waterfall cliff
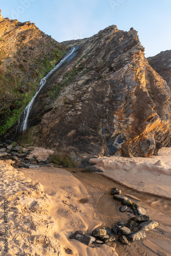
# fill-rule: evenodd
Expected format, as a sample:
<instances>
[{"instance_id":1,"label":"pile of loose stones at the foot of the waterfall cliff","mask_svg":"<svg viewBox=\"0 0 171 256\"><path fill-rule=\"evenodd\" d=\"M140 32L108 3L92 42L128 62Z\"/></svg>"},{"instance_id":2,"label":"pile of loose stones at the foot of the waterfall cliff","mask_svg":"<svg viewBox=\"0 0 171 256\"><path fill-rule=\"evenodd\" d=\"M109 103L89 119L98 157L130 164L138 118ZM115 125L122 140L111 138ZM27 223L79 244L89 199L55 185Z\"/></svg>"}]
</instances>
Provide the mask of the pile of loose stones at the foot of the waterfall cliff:
<instances>
[{"instance_id":1,"label":"pile of loose stones at the foot of the waterfall cliff","mask_svg":"<svg viewBox=\"0 0 171 256\"><path fill-rule=\"evenodd\" d=\"M42 160L36 155L31 155L34 147L22 147L16 142L0 144L0 159L14 167L35 168L40 165L47 165L52 162L50 157L47 160Z\"/></svg>"}]
</instances>

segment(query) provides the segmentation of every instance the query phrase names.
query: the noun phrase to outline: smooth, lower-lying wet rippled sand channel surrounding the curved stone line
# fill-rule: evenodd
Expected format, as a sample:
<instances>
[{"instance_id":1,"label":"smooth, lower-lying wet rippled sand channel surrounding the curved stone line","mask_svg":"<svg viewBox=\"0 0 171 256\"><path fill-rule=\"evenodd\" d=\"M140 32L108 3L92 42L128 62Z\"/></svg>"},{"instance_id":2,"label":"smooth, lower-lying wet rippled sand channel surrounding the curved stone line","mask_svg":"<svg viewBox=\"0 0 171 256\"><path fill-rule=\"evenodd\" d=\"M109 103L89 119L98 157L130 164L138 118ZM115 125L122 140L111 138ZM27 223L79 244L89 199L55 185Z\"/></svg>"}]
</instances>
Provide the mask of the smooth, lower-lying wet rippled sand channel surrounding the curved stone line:
<instances>
[{"instance_id":1,"label":"smooth, lower-lying wet rippled sand channel surrounding the curved stone line","mask_svg":"<svg viewBox=\"0 0 171 256\"><path fill-rule=\"evenodd\" d=\"M76 170L76 173L72 173ZM138 193L97 173L82 173L78 168L41 167L20 169L29 178L44 185L50 202L49 214L55 219L51 235L67 254L79 256L96 255L171 255L171 200ZM117 243L116 252L107 245L86 245L70 240L76 230L91 232L96 227L112 227L117 221L130 219L129 213L121 213L117 202L110 195L112 187L118 187L122 194L139 203L147 210L151 219L159 222L159 227L146 231L146 238L130 245ZM63 255L67 255L63 254Z\"/></svg>"}]
</instances>

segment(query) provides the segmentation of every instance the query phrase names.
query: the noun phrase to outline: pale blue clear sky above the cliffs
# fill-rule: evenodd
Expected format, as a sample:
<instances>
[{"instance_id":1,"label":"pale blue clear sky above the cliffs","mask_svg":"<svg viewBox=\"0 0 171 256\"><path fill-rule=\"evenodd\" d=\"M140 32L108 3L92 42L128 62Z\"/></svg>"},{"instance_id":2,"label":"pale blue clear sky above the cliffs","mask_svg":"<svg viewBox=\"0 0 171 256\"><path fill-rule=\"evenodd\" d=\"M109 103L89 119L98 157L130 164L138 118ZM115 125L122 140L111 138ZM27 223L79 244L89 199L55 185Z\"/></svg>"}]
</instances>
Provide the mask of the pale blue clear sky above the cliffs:
<instances>
[{"instance_id":1,"label":"pale blue clear sky above the cliffs","mask_svg":"<svg viewBox=\"0 0 171 256\"><path fill-rule=\"evenodd\" d=\"M138 31L146 57L171 49L170 0L8 0L2 15L30 20L57 41L90 37L110 25Z\"/></svg>"}]
</instances>

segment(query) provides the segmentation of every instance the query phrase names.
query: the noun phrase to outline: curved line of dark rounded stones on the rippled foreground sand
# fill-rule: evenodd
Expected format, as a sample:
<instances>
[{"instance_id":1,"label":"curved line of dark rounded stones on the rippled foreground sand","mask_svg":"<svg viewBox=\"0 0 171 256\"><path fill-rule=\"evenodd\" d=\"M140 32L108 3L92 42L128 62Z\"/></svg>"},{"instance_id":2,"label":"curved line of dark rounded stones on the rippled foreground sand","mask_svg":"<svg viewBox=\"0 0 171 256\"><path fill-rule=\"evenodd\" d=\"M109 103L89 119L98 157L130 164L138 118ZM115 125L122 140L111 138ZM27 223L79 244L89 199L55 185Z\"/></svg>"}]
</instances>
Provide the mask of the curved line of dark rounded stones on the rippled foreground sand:
<instances>
[{"instance_id":1,"label":"curved line of dark rounded stones on the rippled foreground sand","mask_svg":"<svg viewBox=\"0 0 171 256\"><path fill-rule=\"evenodd\" d=\"M114 199L120 201L123 206L119 208L121 212L128 211L135 215L127 222L117 222L112 228L100 228L93 230L92 233L84 233L76 231L70 236L70 239L76 239L81 243L87 244L106 244L116 248L114 241L129 245L129 241L138 241L146 237L145 231L153 229L159 225L158 222L150 219L146 215L146 210L139 204L129 200L125 196L121 196L121 190L112 188L111 195ZM130 207L130 208L129 208Z\"/></svg>"}]
</instances>

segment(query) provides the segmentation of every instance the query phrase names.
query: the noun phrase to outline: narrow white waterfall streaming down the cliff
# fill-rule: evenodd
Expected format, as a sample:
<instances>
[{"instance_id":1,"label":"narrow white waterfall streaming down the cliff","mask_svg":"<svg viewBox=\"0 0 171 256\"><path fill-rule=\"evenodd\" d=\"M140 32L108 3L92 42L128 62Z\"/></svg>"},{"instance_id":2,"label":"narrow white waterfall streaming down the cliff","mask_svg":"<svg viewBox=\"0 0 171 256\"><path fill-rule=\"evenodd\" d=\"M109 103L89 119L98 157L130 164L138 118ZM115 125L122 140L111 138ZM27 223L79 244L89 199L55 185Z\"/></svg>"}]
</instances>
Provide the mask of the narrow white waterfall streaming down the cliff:
<instances>
[{"instance_id":1,"label":"narrow white waterfall streaming down the cliff","mask_svg":"<svg viewBox=\"0 0 171 256\"><path fill-rule=\"evenodd\" d=\"M20 123L17 125L17 130L16 133L19 131L19 133L22 133L24 130L27 129L27 122L28 122L28 118L29 118L29 114L33 105L33 102L37 96L37 94L40 92L40 90L42 89L42 87L45 86L45 83L47 81L47 79L64 63L64 62L68 62L69 60L71 60L75 54L74 52L76 52L76 50L78 49L78 47L72 47L70 51L68 51L68 53L66 54L65 57L63 57L59 63L55 66L54 69L52 69L44 78L42 78L40 80L39 83L39 87L37 88L37 91L35 93L35 95L33 96L33 98L31 99L31 101L29 102L29 104L26 106L26 108L24 109L24 111L22 112L22 115L20 116L20 121L22 120L22 123Z\"/></svg>"}]
</instances>

